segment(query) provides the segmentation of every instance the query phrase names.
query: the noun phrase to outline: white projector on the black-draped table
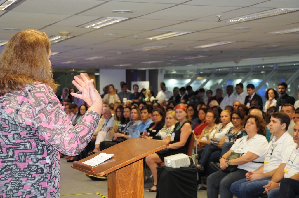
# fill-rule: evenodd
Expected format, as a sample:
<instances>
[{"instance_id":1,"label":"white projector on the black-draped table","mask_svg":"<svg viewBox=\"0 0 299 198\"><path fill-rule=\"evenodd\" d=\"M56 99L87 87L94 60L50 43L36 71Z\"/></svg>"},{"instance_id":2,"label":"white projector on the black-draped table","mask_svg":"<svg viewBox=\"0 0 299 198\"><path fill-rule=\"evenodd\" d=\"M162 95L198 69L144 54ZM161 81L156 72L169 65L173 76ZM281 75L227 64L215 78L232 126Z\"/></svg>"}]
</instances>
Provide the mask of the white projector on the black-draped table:
<instances>
[{"instance_id":1,"label":"white projector on the black-draped table","mask_svg":"<svg viewBox=\"0 0 299 198\"><path fill-rule=\"evenodd\" d=\"M164 157L164 163L171 168L187 167L190 165L190 159L188 155L180 153Z\"/></svg>"}]
</instances>

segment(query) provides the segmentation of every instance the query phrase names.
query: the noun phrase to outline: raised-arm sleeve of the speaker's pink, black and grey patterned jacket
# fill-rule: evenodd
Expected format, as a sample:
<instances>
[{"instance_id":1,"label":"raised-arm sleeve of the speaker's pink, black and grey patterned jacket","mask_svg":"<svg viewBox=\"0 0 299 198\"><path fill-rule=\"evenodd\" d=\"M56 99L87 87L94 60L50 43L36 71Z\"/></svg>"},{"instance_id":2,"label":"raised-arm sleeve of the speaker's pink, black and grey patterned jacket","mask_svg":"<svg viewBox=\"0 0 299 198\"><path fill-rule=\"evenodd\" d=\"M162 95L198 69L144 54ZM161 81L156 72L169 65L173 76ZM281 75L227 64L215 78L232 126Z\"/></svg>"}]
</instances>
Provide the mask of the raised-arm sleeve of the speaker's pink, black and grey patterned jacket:
<instances>
[{"instance_id":1,"label":"raised-arm sleeve of the speaker's pink, black and grey patterned jacket","mask_svg":"<svg viewBox=\"0 0 299 198\"><path fill-rule=\"evenodd\" d=\"M87 111L73 126L51 87L39 83L28 91L34 124L40 136L62 154L79 154L90 142L100 116Z\"/></svg>"}]
</instances>

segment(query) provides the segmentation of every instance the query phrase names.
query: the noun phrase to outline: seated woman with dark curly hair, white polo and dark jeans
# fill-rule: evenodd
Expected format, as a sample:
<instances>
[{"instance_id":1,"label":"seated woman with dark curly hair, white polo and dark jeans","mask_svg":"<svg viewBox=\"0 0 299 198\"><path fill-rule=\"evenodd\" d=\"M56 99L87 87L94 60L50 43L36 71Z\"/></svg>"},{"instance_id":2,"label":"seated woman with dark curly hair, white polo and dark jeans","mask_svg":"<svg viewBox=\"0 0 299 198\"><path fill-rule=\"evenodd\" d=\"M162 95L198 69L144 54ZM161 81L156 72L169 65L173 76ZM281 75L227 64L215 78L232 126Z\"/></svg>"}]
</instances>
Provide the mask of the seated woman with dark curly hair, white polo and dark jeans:
<instances>
[{"instance_id":1,"label":"seated woman with dark curly hair, white polo and dark jeans","mask_svg":"<svg viewBox=\"0 0 299 198\"><path fill-rule=\"evenodd\" d=\"M220 157L220 168L217 172L210 174L207 178L207 196L209 198L232 198L231 184L245 178L248 171L258 169L265 158L268 141L265 137L266 123L260 117L249 115L246 119L246 136L239 138L231 149ZM227 160L232 152L242 154L242 157ZM228 165L238 165L234 172L225 172Z\"/></svg>"}]
</instances>

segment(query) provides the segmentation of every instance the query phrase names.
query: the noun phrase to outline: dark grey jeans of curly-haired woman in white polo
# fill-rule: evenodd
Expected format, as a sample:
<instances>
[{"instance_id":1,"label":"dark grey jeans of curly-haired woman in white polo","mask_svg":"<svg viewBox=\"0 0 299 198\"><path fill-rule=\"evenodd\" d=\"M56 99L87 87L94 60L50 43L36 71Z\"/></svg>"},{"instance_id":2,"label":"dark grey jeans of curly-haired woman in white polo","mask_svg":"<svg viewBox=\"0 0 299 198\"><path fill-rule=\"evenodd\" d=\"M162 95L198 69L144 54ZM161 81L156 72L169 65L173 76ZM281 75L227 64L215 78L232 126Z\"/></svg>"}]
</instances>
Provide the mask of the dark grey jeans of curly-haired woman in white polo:
<instances>
[{"instance_id":1,"label":"dark grey jeans of curly-haired woman in white polo","mask_svg":"<svg viewBox=\"0 0 299 198\"><path fill-rule=\"evenodd\" d=\"M208 198L232 198L231 184L237 180L245 178L248 171L237 168L236 171L226 173L222 170L210 174L207 178L207 196Z\"/></svg>"}]
</instances>

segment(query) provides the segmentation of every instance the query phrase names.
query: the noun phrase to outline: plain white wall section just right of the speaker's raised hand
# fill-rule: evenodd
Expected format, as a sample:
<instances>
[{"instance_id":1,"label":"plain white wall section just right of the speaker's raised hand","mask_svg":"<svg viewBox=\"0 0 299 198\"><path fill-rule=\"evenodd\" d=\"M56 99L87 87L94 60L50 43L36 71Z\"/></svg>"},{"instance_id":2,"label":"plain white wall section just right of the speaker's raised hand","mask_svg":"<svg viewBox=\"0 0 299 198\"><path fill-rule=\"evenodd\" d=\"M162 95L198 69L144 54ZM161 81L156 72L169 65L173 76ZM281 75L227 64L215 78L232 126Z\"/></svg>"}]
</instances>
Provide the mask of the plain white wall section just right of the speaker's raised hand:
<instances>
[{"instance_id":1,"label":"plain white wall section just right of the speaker's raised hand","mask_svg":"<svg viewBox=\"0 0 299 198\"><path fill-rule=\"evenodd\" d=\"M103 87L109 84L120 91L121 81L126 82L126 69L100 69L100 94L103 94Z\"/></svg>"}]
</instances>

